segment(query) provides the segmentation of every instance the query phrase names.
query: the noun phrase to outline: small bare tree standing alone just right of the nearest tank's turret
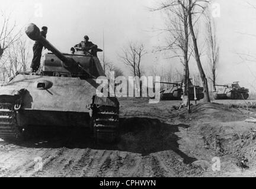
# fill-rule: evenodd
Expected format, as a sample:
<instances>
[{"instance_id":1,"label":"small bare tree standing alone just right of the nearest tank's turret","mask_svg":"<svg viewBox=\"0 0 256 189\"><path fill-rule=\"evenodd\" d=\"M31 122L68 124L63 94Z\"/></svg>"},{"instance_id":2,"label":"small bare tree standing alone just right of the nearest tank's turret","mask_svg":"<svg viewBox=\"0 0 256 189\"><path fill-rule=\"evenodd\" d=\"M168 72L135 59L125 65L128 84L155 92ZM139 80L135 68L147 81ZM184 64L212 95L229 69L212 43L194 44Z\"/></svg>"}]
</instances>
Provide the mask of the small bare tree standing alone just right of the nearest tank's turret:
<instances>
[{"instance_id":1,"label":"small bare tree standing alone just right of the nearest tank's turret","mask_svg":"<svg viewBox=\"0 0 256 189\"><path fill-rule=\"evenodd\" d=\"M129 66L133 76L142 76L142 57L146 51L143 44L130 43L128 47L123 48L123 52L119 54L121 61Z\"/></svg>"}]
</instances>

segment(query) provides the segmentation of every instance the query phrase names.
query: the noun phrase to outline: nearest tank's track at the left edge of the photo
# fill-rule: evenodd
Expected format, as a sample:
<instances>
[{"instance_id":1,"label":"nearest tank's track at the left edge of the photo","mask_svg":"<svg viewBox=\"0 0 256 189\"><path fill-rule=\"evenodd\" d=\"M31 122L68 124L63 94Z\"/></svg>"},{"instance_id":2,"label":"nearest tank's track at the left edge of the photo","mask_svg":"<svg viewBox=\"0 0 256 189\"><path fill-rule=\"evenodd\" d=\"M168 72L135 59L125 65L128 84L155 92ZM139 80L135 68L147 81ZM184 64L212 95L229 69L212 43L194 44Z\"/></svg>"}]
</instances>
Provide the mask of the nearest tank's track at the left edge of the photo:
<instances>
[{"instance_id":1,"label":"nearest tank's track at the left edge of the photo","mask_svg":"<svg viewBox=\"0 0 256 189\"><path fill-rule=\"evenodd\" d=\"M17 127L14 105L0 103L0 138L4 141L20 141L21 132Z\"/></svg>"}]
</instances>

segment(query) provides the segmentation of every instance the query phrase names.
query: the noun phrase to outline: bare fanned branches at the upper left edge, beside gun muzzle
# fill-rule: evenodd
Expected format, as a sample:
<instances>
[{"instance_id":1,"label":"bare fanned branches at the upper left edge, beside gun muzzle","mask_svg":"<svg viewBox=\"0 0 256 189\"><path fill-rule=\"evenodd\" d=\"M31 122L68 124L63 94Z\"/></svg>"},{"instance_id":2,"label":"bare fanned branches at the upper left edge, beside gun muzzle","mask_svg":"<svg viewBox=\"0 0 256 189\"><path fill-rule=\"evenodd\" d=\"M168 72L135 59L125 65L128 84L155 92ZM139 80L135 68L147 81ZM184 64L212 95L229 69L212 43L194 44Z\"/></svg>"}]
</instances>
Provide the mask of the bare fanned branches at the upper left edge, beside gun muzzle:
<instances>
[{"instance_id":1,"label":"bare fanned branches at the upper left edge, beside gun muzzle","mask_svg":"<svg viewBox=\"0 0 256 189\"><path fill-rule=\"evenodd\" d=\"M4 51L7 50L20 37L20 31L15 32L16 23L11 21L11 14L5 14L1 11L0 15L0 58Z\"/></svg>"}]
</instances>

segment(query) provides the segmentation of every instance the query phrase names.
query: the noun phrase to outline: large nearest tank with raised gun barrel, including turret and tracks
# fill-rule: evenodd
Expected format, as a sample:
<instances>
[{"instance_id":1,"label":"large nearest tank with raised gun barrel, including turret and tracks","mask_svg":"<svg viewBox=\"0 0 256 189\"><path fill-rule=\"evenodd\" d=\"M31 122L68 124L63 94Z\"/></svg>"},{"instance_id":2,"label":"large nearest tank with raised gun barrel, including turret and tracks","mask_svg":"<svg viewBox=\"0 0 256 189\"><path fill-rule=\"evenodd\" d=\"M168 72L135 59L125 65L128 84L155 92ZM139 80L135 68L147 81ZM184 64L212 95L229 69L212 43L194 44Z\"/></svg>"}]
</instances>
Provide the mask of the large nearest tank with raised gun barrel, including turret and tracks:
<instances>
[{"instance_id":1,"label":"large nearest tank with raised gun barrel, including turret and tracks","mask_svg":"<svg viewBox=\"0 0 256 189\"><path fill-rule=\"evenodd\" d=\"M0 87L0 138L17 142L34 128L79 127L91 128L96 142L114 142L119 101L96 95L96 79L105 76L97 53L62 54L36 25L25 32L52 53L43 55L39 73L19 72Z\"/></svg>"}]
</instances>

